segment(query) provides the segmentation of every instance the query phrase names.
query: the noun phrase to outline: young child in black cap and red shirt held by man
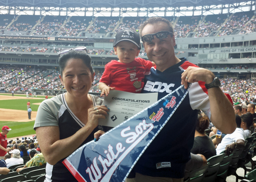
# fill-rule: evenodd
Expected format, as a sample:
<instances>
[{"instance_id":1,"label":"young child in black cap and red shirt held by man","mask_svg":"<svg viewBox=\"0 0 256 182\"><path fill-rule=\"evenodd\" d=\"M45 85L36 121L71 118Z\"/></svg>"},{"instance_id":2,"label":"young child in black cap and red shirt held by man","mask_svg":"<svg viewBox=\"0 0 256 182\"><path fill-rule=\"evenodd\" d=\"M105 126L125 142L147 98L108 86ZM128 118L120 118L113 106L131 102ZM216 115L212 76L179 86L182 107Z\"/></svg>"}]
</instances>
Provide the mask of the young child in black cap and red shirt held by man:
<instances>
[{"instance_id":1,"label":"young child in black cap and red shirt held by man","mask_svg":"<svg viewBox=\"0 0 256 182\"><path fill-rule=\"evenodd\" d=\"M99 88L101 96L108 96L109 90L122 90L140 93L144 86L145 72L155 64L142 58L136 58L141 50L140 36L134 30L122 30L116 34L114 52L118 61L112 60L105 65Z\"/></svg>"}]
</instances>

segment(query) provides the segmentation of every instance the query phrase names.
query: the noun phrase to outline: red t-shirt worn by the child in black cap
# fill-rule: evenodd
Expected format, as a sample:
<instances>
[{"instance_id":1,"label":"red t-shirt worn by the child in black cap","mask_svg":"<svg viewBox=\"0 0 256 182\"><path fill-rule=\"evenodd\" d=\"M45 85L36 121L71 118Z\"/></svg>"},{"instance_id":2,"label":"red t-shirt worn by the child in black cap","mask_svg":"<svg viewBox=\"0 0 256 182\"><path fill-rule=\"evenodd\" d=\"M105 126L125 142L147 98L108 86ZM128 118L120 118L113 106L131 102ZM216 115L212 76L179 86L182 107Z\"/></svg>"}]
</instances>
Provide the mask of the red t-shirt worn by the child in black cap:
<instances>
[{"instance_id":1,"label":"red t-shirt worn by the child in black cap","mask_svg":"<svg viewBox=\"0 0 256 182\"><path fill-rule=\"evenodd\" d=\"M105 65L105 71L100 82L110 87L116 87L116 90L141 93L145 72L150 71L151 67L152 62L142 58L135 58L133 62L128 64L112 60Z\"/></svg>"}]
</instances>

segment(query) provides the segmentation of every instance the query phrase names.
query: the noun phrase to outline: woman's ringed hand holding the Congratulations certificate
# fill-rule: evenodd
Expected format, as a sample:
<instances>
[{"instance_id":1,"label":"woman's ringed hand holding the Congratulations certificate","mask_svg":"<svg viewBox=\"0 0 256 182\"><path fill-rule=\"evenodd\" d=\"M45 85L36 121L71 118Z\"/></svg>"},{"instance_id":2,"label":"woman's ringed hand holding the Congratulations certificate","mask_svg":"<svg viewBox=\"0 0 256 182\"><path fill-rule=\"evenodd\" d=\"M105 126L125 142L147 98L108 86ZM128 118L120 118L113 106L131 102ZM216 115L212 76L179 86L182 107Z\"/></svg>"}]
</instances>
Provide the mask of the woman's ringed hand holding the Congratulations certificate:
<instances>
[{"instance_id":1,"label":"woman's ringed hand holding the Congratulations certificate","mask_svg":"<svg viewBox=\"0 0 256 182\"><path fill-rule=\"evenodd\" d=\"M98 126L100 118L107 118L109 109L107 106L96 106L88 109L88 121L86 125L91 125L93 128Z\"/></svg>"}]
</instances>

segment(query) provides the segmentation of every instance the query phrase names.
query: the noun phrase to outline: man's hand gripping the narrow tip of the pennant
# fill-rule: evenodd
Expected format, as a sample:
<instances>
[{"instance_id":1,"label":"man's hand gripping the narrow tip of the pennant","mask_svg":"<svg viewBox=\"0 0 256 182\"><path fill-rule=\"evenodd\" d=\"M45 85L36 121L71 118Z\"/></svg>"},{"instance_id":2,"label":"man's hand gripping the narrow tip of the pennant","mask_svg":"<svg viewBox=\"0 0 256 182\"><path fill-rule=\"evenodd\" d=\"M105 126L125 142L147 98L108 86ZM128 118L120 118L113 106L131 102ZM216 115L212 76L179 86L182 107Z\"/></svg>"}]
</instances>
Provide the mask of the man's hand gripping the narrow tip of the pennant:
<instances>
[{"instance_id":1,"label":"man's hand gripping the narrow tip of the pennant","mask_svg":"<svg viewBox=\"0 0 256 182\"><path fill-rule=\"evenodd\" d=\"M206 84L209 84L213 81L214 77L214 74L210 70L189 66L181 74L181 84L184 85L184 88L187 88L187 82L204 81Z\"/></svg>"}]
</instances>

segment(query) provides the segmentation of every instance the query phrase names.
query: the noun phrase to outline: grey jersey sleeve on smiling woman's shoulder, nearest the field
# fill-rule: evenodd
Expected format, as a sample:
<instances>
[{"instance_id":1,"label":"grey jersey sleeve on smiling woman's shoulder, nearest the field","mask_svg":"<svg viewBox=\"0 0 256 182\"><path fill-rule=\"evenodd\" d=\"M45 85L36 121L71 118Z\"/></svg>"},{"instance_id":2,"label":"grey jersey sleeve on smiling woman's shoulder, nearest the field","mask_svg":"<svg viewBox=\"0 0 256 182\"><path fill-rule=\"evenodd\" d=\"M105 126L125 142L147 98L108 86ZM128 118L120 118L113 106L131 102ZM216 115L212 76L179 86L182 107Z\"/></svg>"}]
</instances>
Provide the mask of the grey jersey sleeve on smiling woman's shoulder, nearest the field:
<instances>
[{"instance_id":1,"label":"grey jersey sleeve on smiling woman's shoulder, nearest the field","mask_svg":"<svg viewBox=\"0 0 256 182\"><path fill-rule=\"evenodd\" d=\"M52 100L43 101L38 108L34 129L41 126L58 126L58 110Z\"/></svg>"}]
</instances>

